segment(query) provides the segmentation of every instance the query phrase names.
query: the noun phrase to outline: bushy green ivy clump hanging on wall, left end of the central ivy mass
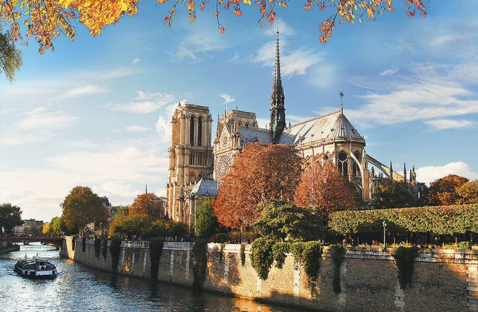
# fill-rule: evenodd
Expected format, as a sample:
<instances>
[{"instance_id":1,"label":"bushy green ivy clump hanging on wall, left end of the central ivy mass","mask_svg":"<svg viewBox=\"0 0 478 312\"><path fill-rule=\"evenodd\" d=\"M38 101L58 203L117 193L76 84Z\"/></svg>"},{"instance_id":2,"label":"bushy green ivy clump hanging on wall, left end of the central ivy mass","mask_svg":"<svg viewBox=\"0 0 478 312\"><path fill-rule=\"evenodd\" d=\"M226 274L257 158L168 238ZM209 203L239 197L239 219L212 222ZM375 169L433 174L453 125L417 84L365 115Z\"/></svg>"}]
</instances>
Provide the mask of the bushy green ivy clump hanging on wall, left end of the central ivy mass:
<instances>
[{"instance_id":1,"label":"bushy green ivy clump hanging on wall, left end of the central ivy mass","mask_svg":"<svg viewBox=\"0 0 478 312\"><path fill-rule=\"evenodd\" d=\"M256 270L257 275L264 281L269 274L269 268L272 266L272 246L274 241L259 237L252 242L251 248L251 266Z\"/></svg>"}]
</instances>

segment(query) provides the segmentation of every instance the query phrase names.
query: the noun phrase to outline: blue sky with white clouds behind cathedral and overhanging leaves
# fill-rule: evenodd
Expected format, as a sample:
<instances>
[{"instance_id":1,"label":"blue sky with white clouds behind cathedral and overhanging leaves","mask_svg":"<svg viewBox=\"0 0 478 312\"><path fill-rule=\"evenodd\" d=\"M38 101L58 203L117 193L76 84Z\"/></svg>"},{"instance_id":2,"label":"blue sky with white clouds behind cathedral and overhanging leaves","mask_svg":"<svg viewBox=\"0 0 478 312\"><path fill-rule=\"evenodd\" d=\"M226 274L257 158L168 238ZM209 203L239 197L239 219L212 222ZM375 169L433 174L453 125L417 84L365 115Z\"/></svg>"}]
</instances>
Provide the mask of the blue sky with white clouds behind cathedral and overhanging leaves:
<instances>
[{"instance_id":1,"label":"blue sky with white clouds behind cathedral and overhanging leaves","mask_svg":"<svg viewBox=\"0 0 478 312\"><path fill-rule=\"evenodd\" d=\"M207 105L213 116L238 107L269 119L276 25L260 28L257 8L222 13L211 3L190 23L168 5L141 1L92 37L55 41L55 51L22 46L13 83L0 76L0 203L24 219L61 216L76 186L112 205L137 195L166 196L170 119L179 102ZM300 3L299 3L300 2ZM409 19L402 1L376 21L337 26L328 44L317 26L328 15L301 1L279 9L286 122L344 113L366 139L366 153L417 180L448 174L478 178L478 2L425 1L426 18Z\"/></svg>"}]
</instances>

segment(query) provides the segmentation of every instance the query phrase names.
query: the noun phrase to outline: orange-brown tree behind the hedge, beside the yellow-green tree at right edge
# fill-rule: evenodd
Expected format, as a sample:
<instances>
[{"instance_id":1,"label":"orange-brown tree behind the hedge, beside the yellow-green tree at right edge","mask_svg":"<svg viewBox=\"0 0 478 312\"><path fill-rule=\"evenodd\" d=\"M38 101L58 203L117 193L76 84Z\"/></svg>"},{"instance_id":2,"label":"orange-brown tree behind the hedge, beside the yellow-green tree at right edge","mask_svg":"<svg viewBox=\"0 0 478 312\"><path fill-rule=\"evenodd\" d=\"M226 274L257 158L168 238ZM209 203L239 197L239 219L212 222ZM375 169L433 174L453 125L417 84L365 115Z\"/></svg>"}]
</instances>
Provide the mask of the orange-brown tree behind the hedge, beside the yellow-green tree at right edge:
<instances>
[{"instance_id":1,"label":"orange-brown tree behind the hedge, beside the yellow-green tree at right edge","mask_svg":"<svg viewBox=\"0 0 478 312\"><path fill-rule=\"evenodd\" d=\"M466 177L447 175L430 184L428 203L432 206L445 206L457 204L459 195L457 189L468 182Z\"/></svg>"}]
</instances>

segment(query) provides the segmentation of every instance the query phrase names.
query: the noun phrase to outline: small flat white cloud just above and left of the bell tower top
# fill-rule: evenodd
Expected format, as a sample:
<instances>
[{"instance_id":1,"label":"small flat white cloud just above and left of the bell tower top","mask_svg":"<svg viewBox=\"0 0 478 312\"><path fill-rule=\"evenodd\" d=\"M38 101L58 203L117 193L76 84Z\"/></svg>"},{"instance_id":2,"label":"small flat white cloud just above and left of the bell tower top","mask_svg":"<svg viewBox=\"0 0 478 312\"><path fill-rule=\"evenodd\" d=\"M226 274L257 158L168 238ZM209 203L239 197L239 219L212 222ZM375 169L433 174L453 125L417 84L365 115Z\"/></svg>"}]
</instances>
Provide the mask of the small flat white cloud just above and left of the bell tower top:
<instances>
[{"instance_id":1,"label":"small flat white cloud just above and left of the bell tower top","mask_svg":"<svg viewBox=\"0 0 478 312\"><path fill-rule=\"evenodd\" d=\"M148 114L157 112L161 107L175 101L175 96L166 93L150 93L138 91L136 101L118 103L114 110L119 112L132 112L134 114Z\"/></svg>"}]
</instances>

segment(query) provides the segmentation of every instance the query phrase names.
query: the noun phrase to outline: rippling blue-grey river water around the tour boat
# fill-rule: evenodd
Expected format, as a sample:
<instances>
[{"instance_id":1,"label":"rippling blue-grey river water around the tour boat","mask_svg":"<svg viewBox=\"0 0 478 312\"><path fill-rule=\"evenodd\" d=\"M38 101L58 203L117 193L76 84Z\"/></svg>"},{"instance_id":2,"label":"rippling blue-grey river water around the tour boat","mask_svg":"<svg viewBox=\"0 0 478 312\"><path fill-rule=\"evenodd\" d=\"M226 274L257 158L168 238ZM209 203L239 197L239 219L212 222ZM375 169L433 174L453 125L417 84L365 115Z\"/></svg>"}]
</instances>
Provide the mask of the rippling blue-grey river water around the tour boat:
<instances>
[{"instance_id":1,"label":"rippling blue-grey river water around the tour boat","mask_svg":"<svg viewBox=\"0 0 478 312\"><path fill-rule=\"evenodd\" d=\"M13 271L15 262L38 255L60 275L32 280ZM21 245L0 255L0 311L299 311L189 288L100 272L59 256L51 246Z\"/></svg>"}]
</instances>

